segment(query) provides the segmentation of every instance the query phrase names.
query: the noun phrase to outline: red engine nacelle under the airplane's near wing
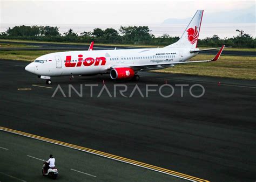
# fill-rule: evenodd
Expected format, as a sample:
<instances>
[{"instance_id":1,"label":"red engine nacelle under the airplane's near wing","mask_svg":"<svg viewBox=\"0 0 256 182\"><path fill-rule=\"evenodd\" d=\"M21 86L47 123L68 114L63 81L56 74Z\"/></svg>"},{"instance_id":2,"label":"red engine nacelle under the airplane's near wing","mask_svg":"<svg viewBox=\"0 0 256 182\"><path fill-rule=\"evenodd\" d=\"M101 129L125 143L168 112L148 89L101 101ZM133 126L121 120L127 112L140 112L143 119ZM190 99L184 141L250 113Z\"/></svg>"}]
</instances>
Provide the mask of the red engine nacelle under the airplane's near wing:
<instances>
[{"instance_id":1,"label":"red engine nacelle under the airplane's near wing","mask_svg":"<svg viewBox=\"0 0 256 182\"><path fill-rule=\"evenodd\" d=\"M113 80L131 79L133 76L134 70L132 68L113 68L110 71L110 77Z\"/></svg>"}]
</instances>

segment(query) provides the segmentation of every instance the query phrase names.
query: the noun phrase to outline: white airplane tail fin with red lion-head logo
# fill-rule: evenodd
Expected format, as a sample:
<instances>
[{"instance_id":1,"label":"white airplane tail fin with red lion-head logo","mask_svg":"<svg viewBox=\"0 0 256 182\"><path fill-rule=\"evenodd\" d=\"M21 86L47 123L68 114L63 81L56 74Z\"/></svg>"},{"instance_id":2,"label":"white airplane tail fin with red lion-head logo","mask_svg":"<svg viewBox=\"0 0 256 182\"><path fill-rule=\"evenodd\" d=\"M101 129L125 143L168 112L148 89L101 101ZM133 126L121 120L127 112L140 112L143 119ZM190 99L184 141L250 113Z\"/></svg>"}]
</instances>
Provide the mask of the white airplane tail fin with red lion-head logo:
<instances>
[{"instance_id":1,"label":"white airplane tail fin with red lion-head logo","mask_svg":"<svg viewBox=\"0 0 256 182\"><path fill-rule=\"evenodd\" d=\"M196 48L204 10L197 10L180 39L166 47Z\"/></svg>"}]
</instances>

